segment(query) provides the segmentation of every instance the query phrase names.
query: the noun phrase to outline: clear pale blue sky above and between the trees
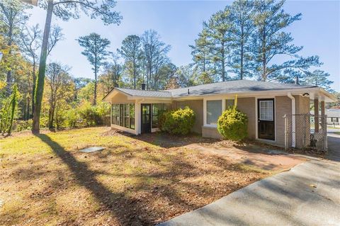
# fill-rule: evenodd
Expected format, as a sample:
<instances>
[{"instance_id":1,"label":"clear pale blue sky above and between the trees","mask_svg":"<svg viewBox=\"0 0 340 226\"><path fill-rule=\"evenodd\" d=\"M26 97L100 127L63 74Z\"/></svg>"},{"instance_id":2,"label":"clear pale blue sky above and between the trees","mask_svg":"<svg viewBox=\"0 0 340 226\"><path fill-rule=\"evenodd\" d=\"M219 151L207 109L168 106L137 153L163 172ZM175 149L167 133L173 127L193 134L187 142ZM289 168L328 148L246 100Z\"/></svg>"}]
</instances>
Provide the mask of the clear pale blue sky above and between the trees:
<instances>
[{"instance_id":1,"label":"clear pale blue sky above and between the trees","mask_svg":"<svg viewBox=\"0 0 340 226\"><path fill-rule=\"evenodd\" d=\"M75 77L93 78L91 65L81 55L77 38L96 32L111 40L111 51L120 47L127 35L141 35L154 29L164 43L171 45L169 57L177 66L191 62L192 45L203 21L232 1L118 1L115 8L123 21L120 26L103 26L101 20L91 20L81 15L78 20L64 22L55 16L52 23L62 27L65 39L58 43L48 61L57 61L72 67ZM302 20L293 23L292 33L295 45L303 45L302 56L319 55L324 62L320 69L331 74L333 89L340 91L340 1L287 1L285 11L302 13ZM31 25L45 22L45 11L35 7L30 10Z\"/></svg>"}]
</instances>

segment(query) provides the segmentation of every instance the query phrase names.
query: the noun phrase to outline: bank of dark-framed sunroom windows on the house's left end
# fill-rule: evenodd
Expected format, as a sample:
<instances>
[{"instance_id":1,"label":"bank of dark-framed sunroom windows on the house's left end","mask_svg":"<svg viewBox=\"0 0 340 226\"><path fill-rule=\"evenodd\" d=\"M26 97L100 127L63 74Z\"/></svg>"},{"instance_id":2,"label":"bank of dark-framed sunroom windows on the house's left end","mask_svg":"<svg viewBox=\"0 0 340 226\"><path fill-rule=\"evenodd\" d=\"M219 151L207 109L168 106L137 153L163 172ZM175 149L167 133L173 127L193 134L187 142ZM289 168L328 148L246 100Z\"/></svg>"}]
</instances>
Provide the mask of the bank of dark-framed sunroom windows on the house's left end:
<instances>
[{"instance_id":1,"label":"bank of dark-framed sunroom windows on the house's left end","mask_svg":"<svg viewBox=\"0 0 340 226\"><path fill-rule=\"evenodd\" d=\"M112 122L125 128L135 129L135 103L113 104Z\"/></svg>"}]
</instances>

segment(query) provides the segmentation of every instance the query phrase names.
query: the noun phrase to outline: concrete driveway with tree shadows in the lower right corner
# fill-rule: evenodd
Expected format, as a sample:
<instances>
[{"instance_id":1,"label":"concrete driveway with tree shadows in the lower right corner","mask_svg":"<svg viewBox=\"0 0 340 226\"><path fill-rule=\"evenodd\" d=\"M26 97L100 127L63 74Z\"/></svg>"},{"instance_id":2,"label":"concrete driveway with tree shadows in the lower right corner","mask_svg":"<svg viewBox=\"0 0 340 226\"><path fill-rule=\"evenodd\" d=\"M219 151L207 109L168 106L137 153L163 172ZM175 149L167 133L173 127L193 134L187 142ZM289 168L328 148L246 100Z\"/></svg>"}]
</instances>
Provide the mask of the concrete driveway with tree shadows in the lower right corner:
<instances>
[{"instance_id":1,"label":"concrete driveway with tree shadows in the lower right corner","mask_svg":"<svg viewBox=\"0 0 340 226\"><path fill-rule=\"evenodd\" d=\"M340 225L340 136L329 159L310 158L165 225Z\"/></svg>"}]
</instances>

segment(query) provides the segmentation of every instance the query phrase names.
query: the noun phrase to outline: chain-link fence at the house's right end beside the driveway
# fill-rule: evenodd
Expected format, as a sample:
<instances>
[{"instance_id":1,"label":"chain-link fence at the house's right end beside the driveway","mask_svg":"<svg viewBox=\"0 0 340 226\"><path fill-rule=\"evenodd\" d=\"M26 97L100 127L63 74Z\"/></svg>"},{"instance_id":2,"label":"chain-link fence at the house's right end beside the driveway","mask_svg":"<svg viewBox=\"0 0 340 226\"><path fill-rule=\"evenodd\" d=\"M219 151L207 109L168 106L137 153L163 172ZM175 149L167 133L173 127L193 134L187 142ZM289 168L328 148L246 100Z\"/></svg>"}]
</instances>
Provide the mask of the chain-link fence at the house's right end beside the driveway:
<instances>
[{"instance_id":1,"label":"chain-link fence at the house's right end beside the driveway","mask_svg":"<svg viewBox=\"0 0 340 226\"><path fill-rule=\"evenodd\" d=\"M327 115L285 115L285 149L327 152Z\"/></svg>"}]
</instances>

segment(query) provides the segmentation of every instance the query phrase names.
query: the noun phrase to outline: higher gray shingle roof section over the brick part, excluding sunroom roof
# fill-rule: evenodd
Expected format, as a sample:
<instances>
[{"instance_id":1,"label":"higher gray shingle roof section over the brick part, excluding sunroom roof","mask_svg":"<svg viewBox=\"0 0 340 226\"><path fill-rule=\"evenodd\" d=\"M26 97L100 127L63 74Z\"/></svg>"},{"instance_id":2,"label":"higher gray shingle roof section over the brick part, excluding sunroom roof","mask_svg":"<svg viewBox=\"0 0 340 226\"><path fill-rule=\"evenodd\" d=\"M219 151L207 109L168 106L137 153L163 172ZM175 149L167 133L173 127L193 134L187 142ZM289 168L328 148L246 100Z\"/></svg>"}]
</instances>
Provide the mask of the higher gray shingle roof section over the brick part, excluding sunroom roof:
<instances>
[{"instance_id":1,"label":"higher gray shingle roof section over the brick part, excluding sunroom roof","mask_svg":"<svg viewBox=\"0 0 340 226\"><path fill-rule=\"evenodd\" d=\"M233 80L221 81L212 84L205 84L200 86L191 86L188 88L171 89L173 97L181 96L199 96L210 94L233 94L251 91L274 91L283 89L302 89L312 88L316 86L302 86L297 84L281 84L268 81L251 81L251 80ZM189 94L188 94L189 89Z\"/></svg>"}]
</instances>

